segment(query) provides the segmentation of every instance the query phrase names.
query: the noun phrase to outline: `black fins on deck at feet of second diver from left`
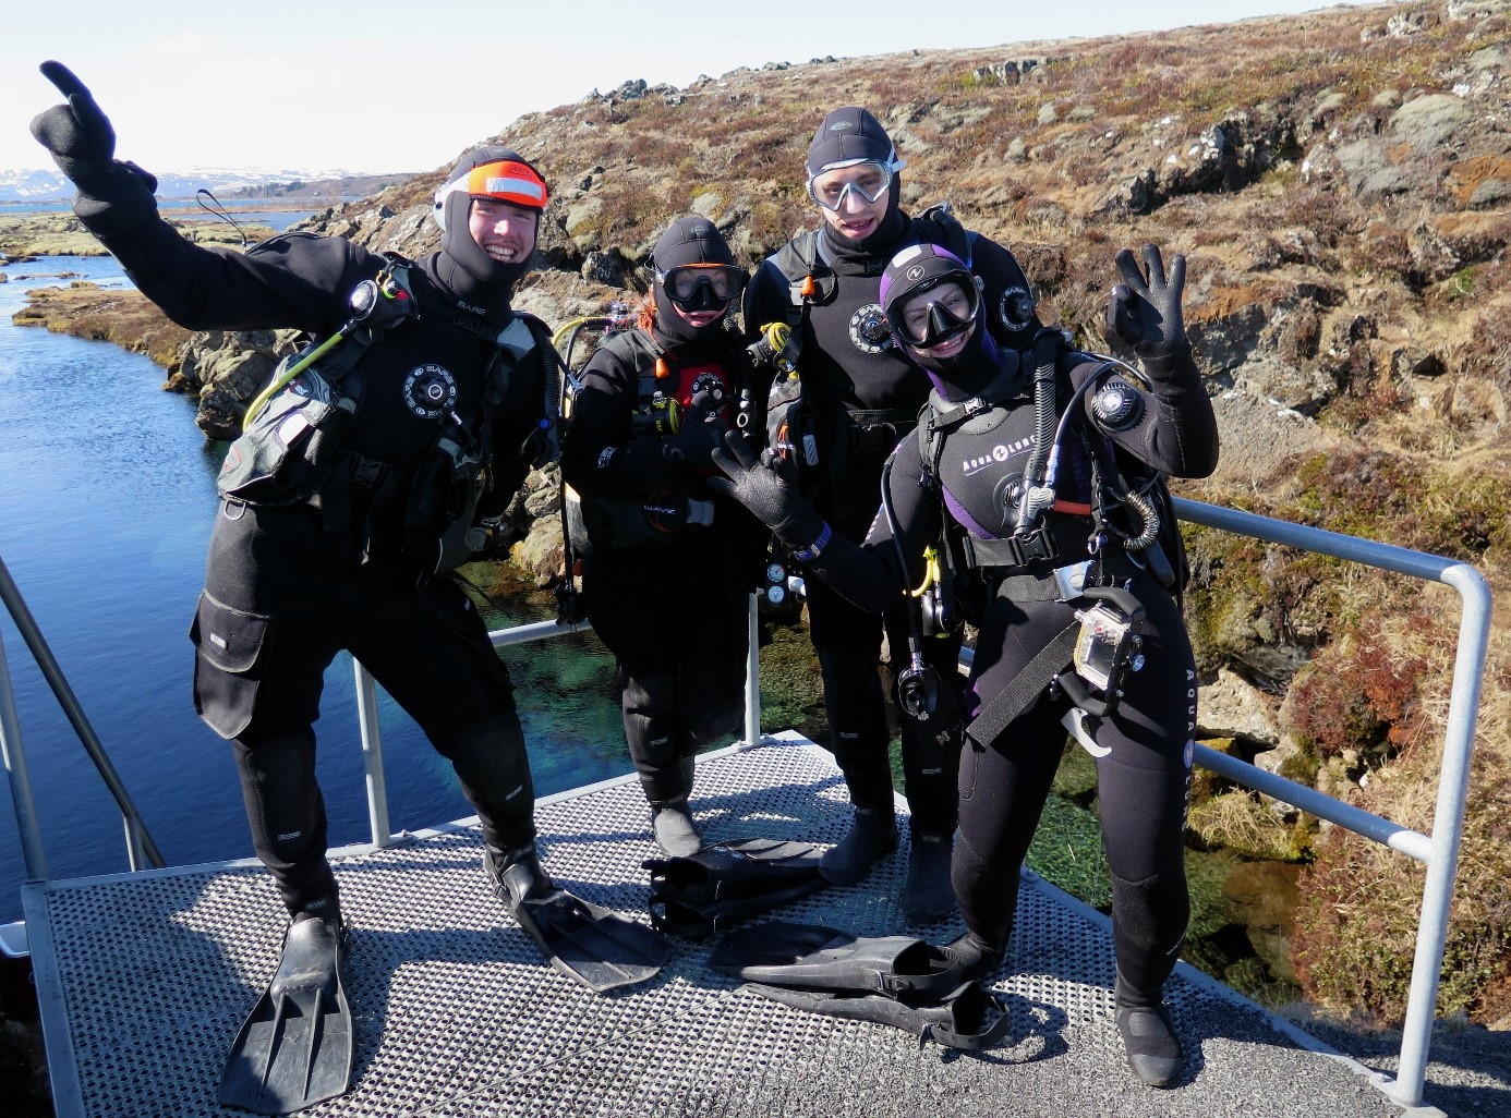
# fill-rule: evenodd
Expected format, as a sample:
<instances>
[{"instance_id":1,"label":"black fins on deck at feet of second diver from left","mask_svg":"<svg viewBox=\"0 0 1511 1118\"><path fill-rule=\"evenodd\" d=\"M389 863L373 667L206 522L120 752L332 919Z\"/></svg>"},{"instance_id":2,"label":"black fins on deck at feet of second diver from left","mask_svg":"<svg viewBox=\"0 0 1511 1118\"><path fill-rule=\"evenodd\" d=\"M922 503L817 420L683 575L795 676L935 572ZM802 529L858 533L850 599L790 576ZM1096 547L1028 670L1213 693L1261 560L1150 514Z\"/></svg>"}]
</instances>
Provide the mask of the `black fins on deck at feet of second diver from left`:
<instances>
[{"instance_id":1,"label":"black fins on deck at feet of second diver from left","mask_svg":"<svg viewBox=\"0 0 1511 1118\"><path fill-rule=\"evenodd\" d=\"M706 940L823 888L817 849L777 838L731 838L677 858L648 858L651 926Z\"/></svg>"}]
</instances>

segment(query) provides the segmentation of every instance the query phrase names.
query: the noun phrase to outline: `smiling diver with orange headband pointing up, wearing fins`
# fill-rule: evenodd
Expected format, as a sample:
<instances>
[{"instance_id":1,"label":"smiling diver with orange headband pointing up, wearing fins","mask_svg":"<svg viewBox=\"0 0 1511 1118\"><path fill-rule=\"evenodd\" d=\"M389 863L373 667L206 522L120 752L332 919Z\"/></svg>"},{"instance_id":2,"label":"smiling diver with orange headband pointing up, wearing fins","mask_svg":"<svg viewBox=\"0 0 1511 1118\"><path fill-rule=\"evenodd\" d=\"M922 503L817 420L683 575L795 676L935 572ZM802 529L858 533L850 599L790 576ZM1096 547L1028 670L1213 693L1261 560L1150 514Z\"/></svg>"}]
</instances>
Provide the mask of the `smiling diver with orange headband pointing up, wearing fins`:
<instances>
[{"instance_id":1,"label":"smiling diver with orange headband pointing up, wearing fins","mask_svg":"<svg viewBox=\"0 0 1511 1118\"><path fill-rule=\"evenodd\" d=\"M227 453L190 633L195 706L231 743L252 845L290 920L222 1101L284 1113L348 1089L348 926L313 731L343 648L452 763L493 887L553 965L595 990L654 974L659 935L541 869L514 686L449 577L487 535L480 520L553 453L550 335L511 307L547 204L541 174L508 148L464 156L435 196L441 249L420 261L308 233L246 252L201 248L159 216L153 175L115 157L115 130L83 83L57 62L42 74L66 103L32 134L77 187L74 213L148 299L189 329L325 338L281 367ZM298 1021L304 1042L284 1027Z\"/></svg>"}]
</instances>

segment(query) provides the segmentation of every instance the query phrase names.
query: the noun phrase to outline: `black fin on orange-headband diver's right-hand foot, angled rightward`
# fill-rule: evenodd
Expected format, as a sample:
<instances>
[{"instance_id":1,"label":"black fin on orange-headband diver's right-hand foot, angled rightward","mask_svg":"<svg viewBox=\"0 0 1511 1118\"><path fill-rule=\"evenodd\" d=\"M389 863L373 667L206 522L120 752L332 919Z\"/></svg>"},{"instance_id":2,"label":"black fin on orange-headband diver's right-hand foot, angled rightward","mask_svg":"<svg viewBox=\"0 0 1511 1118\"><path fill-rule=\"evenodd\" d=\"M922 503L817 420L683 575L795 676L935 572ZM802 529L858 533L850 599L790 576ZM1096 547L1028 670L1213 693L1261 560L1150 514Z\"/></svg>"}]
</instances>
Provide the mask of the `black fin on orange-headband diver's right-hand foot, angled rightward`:
<instances>
[{"instance_id":1,"label":"black fin on orange-headband diver's right-hand foot, angled rightward","mask_svg":"<svg viewBox=\"0 0 1511 1118\"><path fill-rule=\"evenodd\" d=\"M654 977L671 955L653 929L552 884L533 852L499 878L509 914L562 974L595 994Z\"/></svg>"}]
</instances>

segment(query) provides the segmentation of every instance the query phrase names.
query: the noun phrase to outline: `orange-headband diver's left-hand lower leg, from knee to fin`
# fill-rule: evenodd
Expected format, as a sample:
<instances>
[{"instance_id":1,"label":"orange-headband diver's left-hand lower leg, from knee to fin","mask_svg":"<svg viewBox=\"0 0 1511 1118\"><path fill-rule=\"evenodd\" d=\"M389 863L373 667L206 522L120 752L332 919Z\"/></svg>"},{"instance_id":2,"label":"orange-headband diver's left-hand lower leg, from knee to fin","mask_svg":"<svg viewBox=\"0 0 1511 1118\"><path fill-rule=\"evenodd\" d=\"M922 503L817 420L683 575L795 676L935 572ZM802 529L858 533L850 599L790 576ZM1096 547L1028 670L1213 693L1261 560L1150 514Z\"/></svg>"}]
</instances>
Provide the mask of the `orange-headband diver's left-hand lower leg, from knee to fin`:
<instances>
[{"instance_id":1,"label":"orange-headband diver's left-hand lower leg, from knee to fin","mask_svg":"<svg viewBox=\"0 0 1511 1118\"><path fill-rule=\"evenodd\" d=\"M290 916L334 914L335 878L325 858L325 799L314 780L314 734L257 745L231 742L252 848L272 872Z\"/></svg>"}]
</instances>

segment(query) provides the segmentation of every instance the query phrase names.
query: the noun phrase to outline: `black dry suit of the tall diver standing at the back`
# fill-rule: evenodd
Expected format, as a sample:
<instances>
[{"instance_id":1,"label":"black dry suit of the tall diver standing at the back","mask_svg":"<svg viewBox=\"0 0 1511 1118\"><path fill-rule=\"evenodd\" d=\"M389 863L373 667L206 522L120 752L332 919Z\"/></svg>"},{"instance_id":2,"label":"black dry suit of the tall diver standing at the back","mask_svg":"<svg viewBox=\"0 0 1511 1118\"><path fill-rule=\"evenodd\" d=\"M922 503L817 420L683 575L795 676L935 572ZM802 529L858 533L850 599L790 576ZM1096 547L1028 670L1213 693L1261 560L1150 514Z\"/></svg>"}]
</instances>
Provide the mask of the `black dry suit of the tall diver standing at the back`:
<instances>
[{"instance_id":1,"label":"black dry suit of the tall diver standing at the back","mask_svg":"<svg viewBox=\"0 0 1511 1118\"><path fill-rule=\"evenodd\" d=\"M896 183L895 183L896 186ZM907 437L929 393L928 378L899 352L887 332L878 284L887 261L916 243L955 242L984 287L984 317L1009 347L1026 346L1038 328L1027 281L1012 254L987 237L966 233L952 218L910 218L893 204L863 243L846 243L828 225L792 240L751 280L745 304L749 332L771 322L793 322L801 346L798 375L802 406L817 431L819 464L804 491L837 535L860 541L876 512L881 467ZM811 275L811 295L804 280ZM769 372L768 372L769 379ZM765 399L757 385L757 399ZM907 625L854 609L816 580L807 585L808 632L823 675L823 706L831 748L845 772L851 799L891 814L885 709L876 663L885 628L895 671L907 663ZM959 638L925 641L925 659L952 671ZM917 832L947 835L955 828L952 755L899 719L905 793ZM947 752L947 751L946 751Z\"/></svg>"}]
</instances>

